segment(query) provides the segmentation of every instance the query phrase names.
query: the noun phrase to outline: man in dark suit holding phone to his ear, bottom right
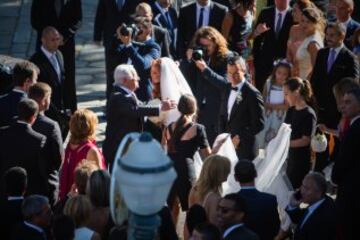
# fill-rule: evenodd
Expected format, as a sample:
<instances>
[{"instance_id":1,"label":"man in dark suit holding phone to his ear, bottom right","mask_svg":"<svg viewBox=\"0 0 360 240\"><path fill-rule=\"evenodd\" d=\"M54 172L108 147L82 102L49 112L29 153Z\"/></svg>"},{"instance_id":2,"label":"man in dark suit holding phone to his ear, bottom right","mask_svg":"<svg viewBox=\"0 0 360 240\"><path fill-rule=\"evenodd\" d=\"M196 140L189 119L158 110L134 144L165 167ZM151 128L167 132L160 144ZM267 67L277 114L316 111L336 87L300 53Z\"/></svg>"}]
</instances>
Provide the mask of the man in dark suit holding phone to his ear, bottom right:
<instances>
[{"instance_id":1,"label":"man in dark suit holding phone to his ear, bottom right","mask_svg":"<svg viewBox=\"0 0 360 240\"><path fill-rule=\"evenodd\" d=\"M294 240L334 239L335 235L335 204L326 195L326 180L316 172L305 176L300 197L295 192L286 212L294 224ZM300 208L300 203L306 203L307 208Z\"/></svg>"}]
</instances>

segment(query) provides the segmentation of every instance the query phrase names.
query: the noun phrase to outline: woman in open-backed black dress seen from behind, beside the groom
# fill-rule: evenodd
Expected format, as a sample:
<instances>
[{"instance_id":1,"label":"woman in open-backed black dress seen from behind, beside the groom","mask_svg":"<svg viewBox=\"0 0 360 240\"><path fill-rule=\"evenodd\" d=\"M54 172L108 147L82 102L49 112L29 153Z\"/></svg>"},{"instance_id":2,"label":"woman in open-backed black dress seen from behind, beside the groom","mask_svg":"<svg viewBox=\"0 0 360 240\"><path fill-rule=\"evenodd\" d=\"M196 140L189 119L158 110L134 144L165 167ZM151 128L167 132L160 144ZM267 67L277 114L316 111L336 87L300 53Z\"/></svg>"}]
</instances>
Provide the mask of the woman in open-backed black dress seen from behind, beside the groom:
<instances>
[{"instance_id":1,"label":"woman in open-backed black dress seen from behind, beside the groom","mask_svg":"<svg viewBox=\"0 0 360 240\"><path fill-rule=\"evenodd\" d=\"M194 180L193 156L200 150L202 157L211 153L205 133L205 127L194 123L197 107L196 100L192 95L181 96L178 103L180 118L171 123L166 130L165 139L168 155L174 162L177 179L170 191L168 205L170 209L178 209L176 200L180 201L183 211L188 210L188 197ZM177 215L177 214L174 214ZM177 217L173 216L176 220Z\"/></svg>"}]
</instances>

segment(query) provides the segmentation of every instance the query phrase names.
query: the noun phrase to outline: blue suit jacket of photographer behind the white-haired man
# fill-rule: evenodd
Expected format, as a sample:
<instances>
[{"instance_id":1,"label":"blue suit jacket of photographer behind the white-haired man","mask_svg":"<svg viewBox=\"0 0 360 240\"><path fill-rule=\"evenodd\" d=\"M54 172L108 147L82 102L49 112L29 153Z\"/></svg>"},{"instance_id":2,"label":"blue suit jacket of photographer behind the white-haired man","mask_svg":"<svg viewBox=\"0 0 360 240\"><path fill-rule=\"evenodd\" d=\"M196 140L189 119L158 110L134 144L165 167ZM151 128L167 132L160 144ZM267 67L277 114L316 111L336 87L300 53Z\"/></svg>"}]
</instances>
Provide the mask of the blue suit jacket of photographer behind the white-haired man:
<instances>
[{"instance_id":1,"label":"blue suit jacket of photographer behind the white-haired man","mask_svg":"<svg viewBox=\"0 0 360 240\"><path fill-rule=\"evenodd\" d=\"M143 43L134 43L128 47L121 44L117 51L118 63L126 63L131 60L132 65L140 77L140 86L136 90L136 96L141 101L152 99L152 85L150 80L150 68L153 60L160 57L160 47L153 39Z\"/></svg>"}]
</instances>

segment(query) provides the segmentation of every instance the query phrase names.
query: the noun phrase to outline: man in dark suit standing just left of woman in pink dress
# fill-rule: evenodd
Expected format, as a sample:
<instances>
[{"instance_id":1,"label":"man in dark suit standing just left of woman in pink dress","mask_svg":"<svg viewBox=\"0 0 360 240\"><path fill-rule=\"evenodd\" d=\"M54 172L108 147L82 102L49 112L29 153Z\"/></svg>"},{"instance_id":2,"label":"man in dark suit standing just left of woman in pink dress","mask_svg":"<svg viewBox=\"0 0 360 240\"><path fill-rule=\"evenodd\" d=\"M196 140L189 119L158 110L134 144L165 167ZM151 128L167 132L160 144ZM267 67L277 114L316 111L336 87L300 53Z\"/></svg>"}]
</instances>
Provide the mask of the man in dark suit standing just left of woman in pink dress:
<instances>
[{"instance_id":1,"label":"man in dark suit standing just left of woman in pink dress","mask_svg":"<svg viewBox=\"0 0 360 240\"><path fill-rule=\"evenodd\" d=\"M50 97L51 88L46 83L38 82L29 90L29 98L35 100L39 105L39 114L32 128L36 132L46 136L44 156L46 159L48 179L52 179L51 182L48 182L49 193L46 196L52 205L52 203L58 200L57 175L62 159L64 158L64 147L59 124L44 114L44 112L49 109Z\"/></svg>"}]
</instances>

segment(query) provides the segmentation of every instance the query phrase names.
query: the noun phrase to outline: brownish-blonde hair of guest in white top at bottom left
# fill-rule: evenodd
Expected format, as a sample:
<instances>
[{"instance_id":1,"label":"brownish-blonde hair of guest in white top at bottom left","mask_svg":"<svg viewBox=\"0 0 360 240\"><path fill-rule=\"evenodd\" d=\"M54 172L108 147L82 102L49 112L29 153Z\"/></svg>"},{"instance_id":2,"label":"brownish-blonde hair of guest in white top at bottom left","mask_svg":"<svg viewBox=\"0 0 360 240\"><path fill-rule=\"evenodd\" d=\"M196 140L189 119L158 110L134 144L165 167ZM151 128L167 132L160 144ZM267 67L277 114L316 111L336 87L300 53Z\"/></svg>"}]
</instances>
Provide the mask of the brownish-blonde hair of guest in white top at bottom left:
<instances>
[{"instance_id":1,"label":"brownish-blonde hair of guest in white top at bottom left","mask_svg":"<svg viewBox=\"0 0 360 240\"><path fill-rule=\"evenodd\" d=\"M84 226L91 213L90 200L85 195L71 197L66 201L63 212L64 215L72 218L77 228Z\"/></svg>"}]
</instances>

